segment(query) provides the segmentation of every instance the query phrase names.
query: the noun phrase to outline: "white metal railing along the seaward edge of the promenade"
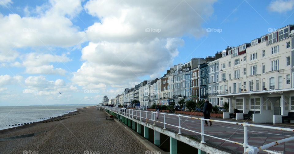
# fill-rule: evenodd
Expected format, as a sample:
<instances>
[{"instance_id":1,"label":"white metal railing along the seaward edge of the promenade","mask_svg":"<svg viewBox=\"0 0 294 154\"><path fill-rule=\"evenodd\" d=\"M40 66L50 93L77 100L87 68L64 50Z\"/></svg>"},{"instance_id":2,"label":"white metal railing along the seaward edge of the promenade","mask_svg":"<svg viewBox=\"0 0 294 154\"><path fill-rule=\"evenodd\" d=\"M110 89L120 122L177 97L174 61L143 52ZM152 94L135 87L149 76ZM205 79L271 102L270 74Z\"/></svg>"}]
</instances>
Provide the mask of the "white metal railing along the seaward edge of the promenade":
<instances>
[{"instance_id":1,"label":"white metal railing along the seaward edge of the promenade","mask_svg":"<svg viewBox=\"0 0 294 154\"><path fill-rule=\"evenodd\" d=\"M285 139L282 139L282 140L279 140L279 141L275 141L275 142L272 142L272 143L269 143L269 144L266 144L266 145L262 145L260 147L253 147L253 146L248 145L248 131L247 131L248 126L266 128L266 129L273 129L273 130L288 131L288 132L294 132L294 129L273 127L273 126L255 125L255 124L249 124L248 122L240 123L240 122L228 122L228 121L221 121L221 120L211 120L211 119L190 117L190 116L185 116L185 115L180 115L180 114L177 115L177 114L168 114L168 113L159 113L159 112L156 113L154 111L142 111L140 109L140 107L138 109L136 107L137 110L119 108L119 107L106 107L106 106L103 106L103 107L105 109L108 109L109 111L115 112L117 114L125 115L125 116L128 116L130 118L135 118L135 119L140 118L140 121L142 121L142 118L144 118L146 120L146 123L147 123L148 120L150 120L151 122L153 122L153 125L155 125L155 122L162 123L164 125L163 129L166 129L166 125L172 126L172 127L177 127L178 134L181 134L181 130L187 130L187 131L190 131L190 132L193 132L193 133L200 134L201 135L201 141L200 141L201 143L205 143L204 137L208 136L208 137L216 138L216 139L219 139L219 140L231 142L231 143L234 143L234 144L242 145L243 148L244 148L244 153L248 153L248 154L256 154L256 153L261 152L261 151L270 152L270 153L273 153L273 154L279 154L278 152L269 151L269 150L266 150L266 149L268 149L270 147L273 147L275 145L281 144L281 143L285 143L287 141L294 141L294 137L288 137L288 138L285 138ZM137 115L137 112L140 112L140 115ZM151 115L150 118L148 118L148 113ZM163 115L164 121L163 122L156 121L155 120L156 114ZM142 115L145 115L145 117L142 117ZM166 118L170 118L170 117L166 117L166 115L177 117L178 121L179 121L178 126L166 123ZM181 127L181 118L190 118L190 119L194 119L194 120L200 120L201 121L201 132L191 130L190 128L186 129L186 128ZM215 137L215 136L212 136L212 135L205 134L204 133L204 121L221 122L221 123L227 123L227 124L232 124L232 125L243 126L243 128L244 128L244 142L239 143L239 142L235 142L235 141L231 141L231 140L223 139L223 138L220 138L220 137Z\"/></svg>"}]
</instances>

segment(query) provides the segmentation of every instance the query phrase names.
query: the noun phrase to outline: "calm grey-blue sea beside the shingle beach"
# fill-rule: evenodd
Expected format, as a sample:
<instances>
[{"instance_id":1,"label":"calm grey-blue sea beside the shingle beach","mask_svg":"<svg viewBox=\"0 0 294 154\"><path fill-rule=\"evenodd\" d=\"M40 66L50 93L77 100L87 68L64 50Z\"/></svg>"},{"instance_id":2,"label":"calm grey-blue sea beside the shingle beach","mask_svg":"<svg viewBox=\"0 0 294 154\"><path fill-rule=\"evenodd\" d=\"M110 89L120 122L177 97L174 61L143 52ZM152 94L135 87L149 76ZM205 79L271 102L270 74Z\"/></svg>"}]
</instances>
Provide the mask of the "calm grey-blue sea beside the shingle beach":
<instances>
[{"instance_id":1,"label":"calm grey-blue sea beside the shingle beach","mask_svg":"<svg viewBox=\"0 0 294 154\"><path fill-rule=\"evenodd\" d=\"M39 122L50 117L58 117L82 107L85 106L0 107L0 130L12 128L21 123Z\"/></svg>"}]
</instances>

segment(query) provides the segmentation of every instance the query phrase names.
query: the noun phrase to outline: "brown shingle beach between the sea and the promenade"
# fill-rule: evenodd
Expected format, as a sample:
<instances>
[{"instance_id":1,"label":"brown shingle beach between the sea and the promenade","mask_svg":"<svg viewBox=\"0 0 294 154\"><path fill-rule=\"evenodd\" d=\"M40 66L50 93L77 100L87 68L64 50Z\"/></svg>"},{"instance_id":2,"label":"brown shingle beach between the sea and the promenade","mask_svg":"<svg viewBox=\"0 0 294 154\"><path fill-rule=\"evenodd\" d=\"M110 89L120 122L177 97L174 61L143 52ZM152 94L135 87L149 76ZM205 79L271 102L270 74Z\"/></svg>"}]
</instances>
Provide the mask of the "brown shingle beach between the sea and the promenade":
<instances>
[{"instance_id":1,"label":"brown shingle beach between the sea and the promenade","mask_svg":"<svg viewBox=\"0 0 294 154\"><path fill-rule=\"evenodd\" d=\"M0 141L0 153L140 153L148 150L104 111L78 110L59 121L38 122L0 131L0 138L39 133L33 137ZM46 132L47 131L47 132Z\"/></svg>"}]
</instances>

